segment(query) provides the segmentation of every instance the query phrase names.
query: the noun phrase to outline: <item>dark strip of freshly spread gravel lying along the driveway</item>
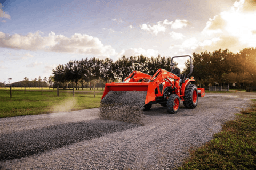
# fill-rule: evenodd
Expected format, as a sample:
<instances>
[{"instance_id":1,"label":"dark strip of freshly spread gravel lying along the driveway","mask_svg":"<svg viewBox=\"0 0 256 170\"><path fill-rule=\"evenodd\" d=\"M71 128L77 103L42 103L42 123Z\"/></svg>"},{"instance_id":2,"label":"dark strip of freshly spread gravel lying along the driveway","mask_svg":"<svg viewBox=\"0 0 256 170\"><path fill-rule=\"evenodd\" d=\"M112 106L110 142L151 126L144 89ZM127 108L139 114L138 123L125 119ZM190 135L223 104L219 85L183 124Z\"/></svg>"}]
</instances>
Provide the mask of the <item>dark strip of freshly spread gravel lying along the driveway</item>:
<instances>
[{"instance_id":1,"label":"dark strip of freshly spread gravel lying along the driveway","mask_svg":"<svg viewBox=\"0 0 256 170\"><path fill-rule=\"evenodd\" d=\"M91 120L0 134L0 160L17 159L138 127L125 122Z\"/></svg>"}]
</instances>

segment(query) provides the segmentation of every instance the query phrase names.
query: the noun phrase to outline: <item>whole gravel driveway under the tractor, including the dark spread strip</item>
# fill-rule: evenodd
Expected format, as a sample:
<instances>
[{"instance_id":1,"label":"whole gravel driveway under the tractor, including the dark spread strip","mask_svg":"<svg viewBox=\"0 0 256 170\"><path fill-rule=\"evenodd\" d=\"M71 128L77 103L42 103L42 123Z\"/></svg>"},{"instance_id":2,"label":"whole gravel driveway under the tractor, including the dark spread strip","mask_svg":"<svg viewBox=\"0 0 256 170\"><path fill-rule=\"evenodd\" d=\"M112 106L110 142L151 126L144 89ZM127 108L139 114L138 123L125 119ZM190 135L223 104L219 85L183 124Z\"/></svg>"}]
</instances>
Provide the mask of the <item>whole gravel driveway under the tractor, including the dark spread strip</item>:
<instances>
[{"instance_id":1,"label":"whole gravel driveway under the tractor, including the dark spread strip","mask_svg":"<svg viewBox=\"0 0 256 170\"><path fill-rule=\"evenodd\" d=\"M207 93L177 114L153 105L144 126L100 120L99 109L0 119L0 169L172 169L256 93ZM1 160L2 159L2 160Z\"/></svg>"}]
</instances>

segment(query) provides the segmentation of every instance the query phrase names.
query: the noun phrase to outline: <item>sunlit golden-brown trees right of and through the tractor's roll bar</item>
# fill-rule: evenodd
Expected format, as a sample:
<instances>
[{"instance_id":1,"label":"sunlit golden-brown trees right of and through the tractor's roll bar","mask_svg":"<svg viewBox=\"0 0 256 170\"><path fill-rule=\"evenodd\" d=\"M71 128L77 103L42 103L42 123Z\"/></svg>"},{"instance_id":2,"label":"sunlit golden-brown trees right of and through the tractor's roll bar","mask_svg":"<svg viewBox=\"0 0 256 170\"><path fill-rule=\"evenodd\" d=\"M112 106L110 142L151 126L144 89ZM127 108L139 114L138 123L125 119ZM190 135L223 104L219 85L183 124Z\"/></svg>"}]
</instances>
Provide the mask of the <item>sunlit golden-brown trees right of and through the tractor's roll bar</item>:
<instances>
[{"instance_id":1,"label":"sunlit golden-brown trees right of and through the tractor's roll bar","mask_svg":"<svg viewBox=\"0 0 256 170\"><path fill-rule=\"evenodd\" d=\"M186 63L183 73L190 71L190 61ZM256 86L256 48L244 48L238 53L228 49L214 52L193 53L193 76L198 84Z\"/></svg>"}]
</instances>

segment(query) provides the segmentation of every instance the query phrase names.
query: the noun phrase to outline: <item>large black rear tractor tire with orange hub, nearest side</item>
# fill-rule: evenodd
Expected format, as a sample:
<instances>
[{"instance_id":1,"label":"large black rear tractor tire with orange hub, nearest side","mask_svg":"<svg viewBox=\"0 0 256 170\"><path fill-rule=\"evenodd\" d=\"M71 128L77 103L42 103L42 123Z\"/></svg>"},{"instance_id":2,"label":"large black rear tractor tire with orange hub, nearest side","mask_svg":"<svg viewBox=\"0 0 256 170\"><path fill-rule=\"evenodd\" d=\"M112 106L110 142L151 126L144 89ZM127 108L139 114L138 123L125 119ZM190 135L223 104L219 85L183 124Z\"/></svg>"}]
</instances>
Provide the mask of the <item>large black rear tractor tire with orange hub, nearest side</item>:
<instances>
[{"instance_id":1,"label":"large black rear tractor tire with orange hub, nearest side","mask_svg":"<svg viewBox=\"0 0 256 170\"><path fill-rule=\"evenodd\" d=\"M196 108L198 103L198 91L194 84L188 84L184 92L183 105L186 108Z\"/></svg>"}]
</instances>

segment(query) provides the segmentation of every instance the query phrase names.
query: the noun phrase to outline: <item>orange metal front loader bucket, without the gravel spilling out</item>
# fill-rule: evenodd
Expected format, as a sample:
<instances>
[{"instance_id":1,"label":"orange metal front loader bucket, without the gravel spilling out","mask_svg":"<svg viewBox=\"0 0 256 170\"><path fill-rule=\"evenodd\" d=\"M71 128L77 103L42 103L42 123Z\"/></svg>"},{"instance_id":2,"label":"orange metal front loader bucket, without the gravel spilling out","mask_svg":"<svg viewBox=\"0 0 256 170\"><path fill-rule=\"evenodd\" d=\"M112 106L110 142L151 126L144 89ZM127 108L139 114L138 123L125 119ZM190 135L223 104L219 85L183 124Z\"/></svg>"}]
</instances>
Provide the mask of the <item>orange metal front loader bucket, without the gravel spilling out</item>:
<instances>
[{"instance_id":1,"label":"orange metal front loader bucket, without the gravel spilling out","mask_svg":"<svg viewBox=\"0 0 256 170\"><path fill-rule=\"evenodd\" d=\"M145 105L150 101L155 101L155 89L152 87L153 82L134 82L134 83L106 83L105 90L101 99L103 99L109 91L147 91Z\"/></svg>"}]
</instances>

